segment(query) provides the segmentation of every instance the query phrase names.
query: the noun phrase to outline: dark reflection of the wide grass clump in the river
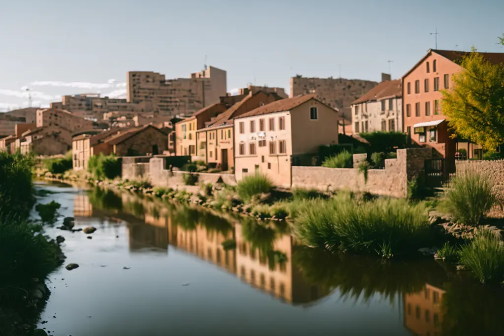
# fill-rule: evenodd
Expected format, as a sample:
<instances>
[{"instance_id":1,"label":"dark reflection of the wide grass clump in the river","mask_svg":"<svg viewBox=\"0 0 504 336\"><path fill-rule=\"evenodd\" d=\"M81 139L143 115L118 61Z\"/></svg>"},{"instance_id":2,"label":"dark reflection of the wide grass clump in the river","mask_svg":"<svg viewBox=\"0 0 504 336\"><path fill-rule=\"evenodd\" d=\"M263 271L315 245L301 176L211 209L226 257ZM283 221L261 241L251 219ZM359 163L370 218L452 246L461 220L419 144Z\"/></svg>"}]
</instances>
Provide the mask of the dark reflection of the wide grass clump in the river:
<instances>
[{"instance_id":1,"label":"dark reflection of the wide grass clump in the river","mask_svg":"<svg viewBox=\"0 0 504 336\"><path fill-rule=\"evenodd\" d=\"M328 290L337 288L345 299L354 300L380 294L392 302L397 294L418 292L426 283L446 277L443 268L430 260L392 262L306 247L296 247L293 263L307 281Z\"/></svg>"}]
</instances>

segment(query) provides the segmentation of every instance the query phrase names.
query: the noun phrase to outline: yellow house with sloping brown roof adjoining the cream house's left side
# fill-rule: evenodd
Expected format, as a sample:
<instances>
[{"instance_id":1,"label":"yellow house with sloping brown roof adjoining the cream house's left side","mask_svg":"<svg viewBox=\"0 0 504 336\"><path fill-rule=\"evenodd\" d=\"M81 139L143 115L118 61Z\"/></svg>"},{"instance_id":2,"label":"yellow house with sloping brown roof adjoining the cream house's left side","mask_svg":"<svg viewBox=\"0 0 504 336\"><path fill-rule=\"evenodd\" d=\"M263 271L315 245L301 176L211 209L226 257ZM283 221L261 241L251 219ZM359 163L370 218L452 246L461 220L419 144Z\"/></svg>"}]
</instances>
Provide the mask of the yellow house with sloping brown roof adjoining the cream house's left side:
<instances>
[{"instance_id":1,"label":"yellow house with sloping brown roof adjoining the cream house's left side","mask_svg":"<svg viewBox=\"0 0 504 336\"><path fill-rule=\"evenodd\" d=\"M198 158L207 164L228 170L234 167L233 118L258 107L283 99L276 92L252 90L245 98L219 114L205 128L196 131Z\"/></svg>"}]
</instances>

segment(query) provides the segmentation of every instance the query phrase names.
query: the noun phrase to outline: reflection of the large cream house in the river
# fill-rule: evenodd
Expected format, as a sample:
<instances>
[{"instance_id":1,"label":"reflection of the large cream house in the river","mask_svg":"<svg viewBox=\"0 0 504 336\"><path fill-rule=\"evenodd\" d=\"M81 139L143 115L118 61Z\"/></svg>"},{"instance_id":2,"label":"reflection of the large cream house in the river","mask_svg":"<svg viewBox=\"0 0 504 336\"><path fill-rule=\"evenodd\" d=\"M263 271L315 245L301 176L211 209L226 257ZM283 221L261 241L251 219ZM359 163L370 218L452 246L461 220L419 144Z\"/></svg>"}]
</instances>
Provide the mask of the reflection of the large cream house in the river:
<instances>
[{"instance_id":1,"label":"reflection of the large cream house in the river","mask_svg":"<svg viewBox=\"0 0 504 336\"><path fill-rule=\"evenodd\" d=\"M267 255L260 249L252 248L243 239L242 225L235 224L236 230L236 268L238 276L250 285L290 303L309 303L326 296L318 286L312 286L304 280L298 268L292 263L293 242L288 234L280 235L273 241L273 250L281 252L286 260L272 260L274 255Z\"/></svg>"}]
</instances>

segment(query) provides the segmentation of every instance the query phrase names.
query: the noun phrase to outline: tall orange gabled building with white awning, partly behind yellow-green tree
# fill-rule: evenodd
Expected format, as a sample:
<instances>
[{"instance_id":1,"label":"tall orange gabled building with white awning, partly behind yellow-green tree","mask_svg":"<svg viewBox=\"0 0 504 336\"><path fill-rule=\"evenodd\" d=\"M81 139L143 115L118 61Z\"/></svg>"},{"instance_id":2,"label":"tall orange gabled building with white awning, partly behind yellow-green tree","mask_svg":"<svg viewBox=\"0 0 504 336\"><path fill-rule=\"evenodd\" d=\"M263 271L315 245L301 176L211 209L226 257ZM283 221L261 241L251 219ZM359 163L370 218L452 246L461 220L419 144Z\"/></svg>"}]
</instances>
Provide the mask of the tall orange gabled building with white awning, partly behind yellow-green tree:
<instances>
[{"instance_id":1,"label":"tall orange gabled building with white awning, partly behind yellow-green tree","mask_svg":"<svg viewBox=\"0 0 504 336\"><path fill-rule=\"evenodd\" d=\"M453 89L452 76L462 71L460 59L463 51L430 49L402 77L404 130L411 141L432 147L440 158L445 158L448 172L454 170L457 141L451 136L447 116L440 110L443 95L439 90ZM481 52L494 64L504 62L504 53ZM469 142L464 141L470 158ZM474 147L473 147L474 149ZM479 149L474 149L478 151Z\"/></svg>"}]
</instances>

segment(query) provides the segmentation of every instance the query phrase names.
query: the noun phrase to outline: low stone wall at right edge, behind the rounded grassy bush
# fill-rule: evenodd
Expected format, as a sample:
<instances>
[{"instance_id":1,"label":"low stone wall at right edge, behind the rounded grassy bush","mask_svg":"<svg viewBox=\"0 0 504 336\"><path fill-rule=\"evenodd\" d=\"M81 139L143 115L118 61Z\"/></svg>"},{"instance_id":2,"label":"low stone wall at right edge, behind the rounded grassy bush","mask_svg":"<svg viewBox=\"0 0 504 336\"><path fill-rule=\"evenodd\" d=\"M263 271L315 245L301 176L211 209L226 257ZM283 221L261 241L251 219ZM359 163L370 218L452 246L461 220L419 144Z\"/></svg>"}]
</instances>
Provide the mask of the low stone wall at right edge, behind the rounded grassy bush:
<instances>
[{"instance_id":1,"label":"low stone wall at right edge, behind the rounded grassy bush","mask_svg":"<svg viewBox=\"0 0 504 336\"><path fill-rule=\"evenodd\" d=\"M504 160L494 161L455 161L456 174L463 174L468 170L476 170L488 174L495 183L494 191L500 204L504 205ZM501 205L494 207L490 213L493 217L504 217Z\"/></svg>"}]
</instances>

